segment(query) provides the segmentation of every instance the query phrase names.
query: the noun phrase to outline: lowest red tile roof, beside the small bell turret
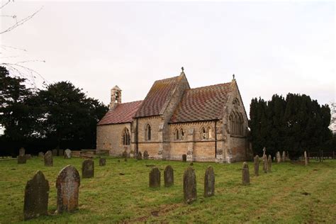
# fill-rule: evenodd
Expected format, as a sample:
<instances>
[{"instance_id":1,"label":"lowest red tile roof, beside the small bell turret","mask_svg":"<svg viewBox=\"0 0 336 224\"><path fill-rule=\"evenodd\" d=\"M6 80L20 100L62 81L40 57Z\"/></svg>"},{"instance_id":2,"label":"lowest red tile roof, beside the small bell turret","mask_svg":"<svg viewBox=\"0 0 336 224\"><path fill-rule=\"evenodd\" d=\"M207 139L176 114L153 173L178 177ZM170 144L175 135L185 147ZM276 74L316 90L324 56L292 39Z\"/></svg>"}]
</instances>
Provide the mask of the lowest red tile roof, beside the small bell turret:
<instances>
[{"instance_id":1,"label":"lowest red tile roof, beside the small bell turret","mask_svg":"<svg viewBox=\"0 0 336 224\"><path fill-rule=\"evenodd\" d=\"M142 101L133 101L129 103L121 103L107 111L105 116L101 118L98 125L108 125L113 123L132 122L132 118L141 106Z\"/></svg>"}]
</instances>

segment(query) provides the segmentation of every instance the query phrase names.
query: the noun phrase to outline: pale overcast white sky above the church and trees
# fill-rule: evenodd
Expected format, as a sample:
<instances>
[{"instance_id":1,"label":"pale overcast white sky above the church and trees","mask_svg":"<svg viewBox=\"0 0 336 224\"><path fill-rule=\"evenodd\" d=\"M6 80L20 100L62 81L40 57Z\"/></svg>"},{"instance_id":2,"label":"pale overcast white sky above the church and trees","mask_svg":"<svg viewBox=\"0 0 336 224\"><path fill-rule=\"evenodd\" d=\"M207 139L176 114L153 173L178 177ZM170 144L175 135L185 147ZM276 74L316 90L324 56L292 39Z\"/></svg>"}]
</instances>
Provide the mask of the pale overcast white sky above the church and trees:
<instances>
[{"instance_id":1,"label":"pale overcast white sky above the church and trees","mask_svg":"<svg viewBox=\"0 0 336 224\"><path fill-rule=\"evenodd\" d=\"M155 80L179 75L182 66L191 88L230 82L235 74L247 113L252 98L273 94L335 101L332 1L16 0L1 15L19 20L42 6L0 35L1 62L45 60L25 65L49 83L67 80L106 104L113 86L123 90L123 102L141 100ZM12 23L1 16L1 31Z\"/></svg>"}]
</instances>

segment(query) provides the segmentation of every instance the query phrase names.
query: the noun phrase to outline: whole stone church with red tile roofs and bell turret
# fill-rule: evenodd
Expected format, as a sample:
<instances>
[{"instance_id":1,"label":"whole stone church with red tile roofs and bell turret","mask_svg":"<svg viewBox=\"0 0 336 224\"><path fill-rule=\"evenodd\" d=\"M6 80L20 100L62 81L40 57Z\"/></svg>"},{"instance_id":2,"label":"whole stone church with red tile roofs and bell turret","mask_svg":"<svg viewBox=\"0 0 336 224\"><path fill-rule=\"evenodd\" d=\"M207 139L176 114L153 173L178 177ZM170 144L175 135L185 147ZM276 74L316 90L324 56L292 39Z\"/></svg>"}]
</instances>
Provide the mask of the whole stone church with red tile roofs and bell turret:
<instances>
[{"instance_id":1,"label":"whole stone church with red tile roofs and bell turret","mask_svg":"<svg viewBox=\"0 0 336 224\"><path fill-rule=\"evenodd\" d=\"M247 114L235 77L224 84L191 89L182 68L157 80L143 101L121 102L111 89L109 111L97 124L96 150L152 159L237 162L252 158Z\"/></svg>"}]
</instances>

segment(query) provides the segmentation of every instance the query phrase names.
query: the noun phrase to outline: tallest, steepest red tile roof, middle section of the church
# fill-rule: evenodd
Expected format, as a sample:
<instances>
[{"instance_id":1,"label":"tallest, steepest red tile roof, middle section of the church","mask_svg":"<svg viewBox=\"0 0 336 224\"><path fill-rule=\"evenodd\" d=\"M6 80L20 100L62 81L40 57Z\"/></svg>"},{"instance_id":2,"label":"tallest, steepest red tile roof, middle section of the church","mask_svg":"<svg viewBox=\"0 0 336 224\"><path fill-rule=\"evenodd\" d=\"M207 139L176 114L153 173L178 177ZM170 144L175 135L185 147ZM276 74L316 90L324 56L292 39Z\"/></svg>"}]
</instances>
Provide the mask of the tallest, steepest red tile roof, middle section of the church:
<instances>
[{"instance_id":1,"label":"tallest, steepest red tile roof, middle section of the church","mask_svg":"<svg viewBox=\"0 0 336 224\"><path fill-rule=\"evenodd\" d=\"M155 81L138 112L135 114L135 117L139 118L162 114L178 82L179 77Z\"/></svg>"}]
</instances>

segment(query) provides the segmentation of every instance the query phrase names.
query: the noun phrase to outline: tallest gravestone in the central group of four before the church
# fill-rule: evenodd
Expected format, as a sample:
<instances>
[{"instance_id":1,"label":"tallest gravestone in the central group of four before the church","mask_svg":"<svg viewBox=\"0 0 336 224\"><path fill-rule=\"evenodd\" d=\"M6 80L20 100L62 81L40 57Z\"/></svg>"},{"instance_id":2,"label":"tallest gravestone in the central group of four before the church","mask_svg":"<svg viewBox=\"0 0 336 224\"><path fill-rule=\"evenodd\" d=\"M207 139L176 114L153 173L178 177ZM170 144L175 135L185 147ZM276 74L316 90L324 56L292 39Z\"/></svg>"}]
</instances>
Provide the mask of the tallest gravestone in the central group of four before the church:
<instances>
[{"instance_id":1,"label":"tallest gravestone in the central group of four before the church","mask_svg":"<svg viewBox=\"0 0 336 224\"><path fill-rule=\"evenodd\" d=\"M196 175L192 167L188 167L183 174L183 194L185 203L193 203L196 201Z\"/></svg>"}]
</instances>

